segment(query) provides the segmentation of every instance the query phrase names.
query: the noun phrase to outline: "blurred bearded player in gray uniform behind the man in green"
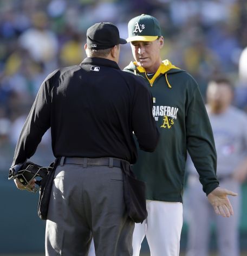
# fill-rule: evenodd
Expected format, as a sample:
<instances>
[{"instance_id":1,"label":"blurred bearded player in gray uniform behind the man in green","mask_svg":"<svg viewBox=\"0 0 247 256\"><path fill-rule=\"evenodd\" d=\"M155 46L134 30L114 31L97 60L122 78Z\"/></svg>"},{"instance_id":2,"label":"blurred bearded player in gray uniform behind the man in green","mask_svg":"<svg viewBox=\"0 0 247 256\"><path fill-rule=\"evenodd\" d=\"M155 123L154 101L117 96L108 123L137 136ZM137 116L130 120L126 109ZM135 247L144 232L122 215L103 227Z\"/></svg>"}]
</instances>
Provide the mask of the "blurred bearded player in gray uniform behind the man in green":
<instances>
[{"instance_id":1,"label":"blurred bearded player in gray uniform behind the man in green","mask_svg":"<svg viewBox=\"0 0 247 256\"><path fill-rule=\"evenodd\" d=\"M209 255L211 222L215 221L220 256L239 256L238 225L241 185L247 177L247 115L231 105L233 86L225 77L211 80L207 93L207 113L217 151L217 178L220 185L238 193L230 202L234 215L221 218L213 213L201 191L191 160L188 160L188 246L186 256Z\"/></svg>"}]
</instances>

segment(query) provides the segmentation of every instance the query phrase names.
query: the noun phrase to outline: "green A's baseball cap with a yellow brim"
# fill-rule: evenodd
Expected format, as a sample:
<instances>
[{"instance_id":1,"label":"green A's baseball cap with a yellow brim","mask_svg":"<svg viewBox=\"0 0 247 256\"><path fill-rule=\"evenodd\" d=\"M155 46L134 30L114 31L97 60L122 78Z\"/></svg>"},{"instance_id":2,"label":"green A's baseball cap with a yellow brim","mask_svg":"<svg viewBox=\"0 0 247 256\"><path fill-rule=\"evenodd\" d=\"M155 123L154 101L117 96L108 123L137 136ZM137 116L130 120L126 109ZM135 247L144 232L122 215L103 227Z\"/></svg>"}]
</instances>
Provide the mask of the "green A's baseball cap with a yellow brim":
<instances>
[{"instance_id":1,"label":"green A's baseball cap with a yellow brim","mask_svg":"<svg viewBox=\"0 0 247 256\"><path fill-rule=\"evenodd\" d=\"M160 24L157 18L142 14L132 18L128 23L127 42L154 41L161 36Z\"/></svg>"}]
</instances>

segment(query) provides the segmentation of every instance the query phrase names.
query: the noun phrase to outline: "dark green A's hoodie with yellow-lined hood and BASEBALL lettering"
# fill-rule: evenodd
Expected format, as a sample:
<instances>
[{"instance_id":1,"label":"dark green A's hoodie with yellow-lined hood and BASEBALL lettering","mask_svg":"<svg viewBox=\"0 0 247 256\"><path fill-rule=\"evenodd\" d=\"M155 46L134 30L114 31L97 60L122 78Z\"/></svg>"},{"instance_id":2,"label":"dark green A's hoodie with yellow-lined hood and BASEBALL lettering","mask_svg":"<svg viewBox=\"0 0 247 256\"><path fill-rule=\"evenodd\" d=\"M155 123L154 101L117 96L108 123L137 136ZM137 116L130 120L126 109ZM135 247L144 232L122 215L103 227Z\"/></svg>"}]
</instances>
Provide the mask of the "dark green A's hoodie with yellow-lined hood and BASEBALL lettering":
<instances>
[{"instance_id":1,"label":"dark green A's hoodie with yellow-lined hood and BASEBALL lettering","mask_svg":"<svg viewBox=\"0 0 247 256\"><path fill-rule=\"evenodd\" d=\"M146 198L183 202L187 151L208 195L219 185L216 149L203 98L193 77L164 60L148 79L145 69L131 62L124 71L145 78L153 95L153 116L160 139L153 153L138 152L133 170L147 185Z\"/></svg>"}]
</instances>

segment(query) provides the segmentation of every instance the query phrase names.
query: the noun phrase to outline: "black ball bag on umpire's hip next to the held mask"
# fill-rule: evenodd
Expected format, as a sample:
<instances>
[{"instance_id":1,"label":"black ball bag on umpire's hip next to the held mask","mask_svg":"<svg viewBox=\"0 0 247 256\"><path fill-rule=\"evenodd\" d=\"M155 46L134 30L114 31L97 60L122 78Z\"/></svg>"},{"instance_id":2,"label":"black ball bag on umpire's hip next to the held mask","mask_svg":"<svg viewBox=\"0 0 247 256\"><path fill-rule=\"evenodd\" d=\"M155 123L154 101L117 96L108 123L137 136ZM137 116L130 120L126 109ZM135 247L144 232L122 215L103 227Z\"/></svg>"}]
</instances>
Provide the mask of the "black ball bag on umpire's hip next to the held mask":
<instances>
[{"instance_id":1,"label":"black ball bag on umpire's hip next to the held mask","mask_svg":"<svg viewBox=\"0 0 247 256\"><path fill-rule=\"evenodd\" d=\"M56 169L56 160L54 163L50 164L50 167L53 167L53 169L41 180L40 198L38 199L38 217L40 217L41 220L47 220L50 194Z\"/></svg>"}]
</instances>

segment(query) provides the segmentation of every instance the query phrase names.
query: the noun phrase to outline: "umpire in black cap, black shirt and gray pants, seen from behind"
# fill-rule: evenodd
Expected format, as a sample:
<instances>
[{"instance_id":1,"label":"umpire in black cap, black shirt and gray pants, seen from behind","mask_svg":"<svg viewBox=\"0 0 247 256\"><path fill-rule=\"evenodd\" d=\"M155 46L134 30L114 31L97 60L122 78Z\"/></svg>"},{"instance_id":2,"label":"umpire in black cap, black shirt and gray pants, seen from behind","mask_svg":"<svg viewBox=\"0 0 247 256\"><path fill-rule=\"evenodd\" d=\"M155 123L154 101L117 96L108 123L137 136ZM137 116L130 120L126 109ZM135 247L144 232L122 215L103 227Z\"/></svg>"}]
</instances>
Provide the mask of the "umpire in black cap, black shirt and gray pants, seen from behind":
<instances>
[{"instance_id":1,"label":"umpire in black cap, black shirt and gray pants, seen from behind","mask_svg":"<svg viewBox=\"0 0 247 256\"><path fill-rule=\"evenodd\" d=\"M90 27L87 58L49 74L19 136L12 166L30 158L51 127L58 165L46 255L88 255L92 238L98 256L132 255L134 222L125 207L120 164L137 160L133 133L139 147L152 152L159 132L144 80L117 64L124 43L112 23Z\"/></svg>"}]
</instances>

